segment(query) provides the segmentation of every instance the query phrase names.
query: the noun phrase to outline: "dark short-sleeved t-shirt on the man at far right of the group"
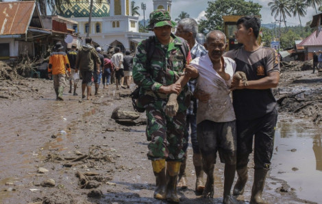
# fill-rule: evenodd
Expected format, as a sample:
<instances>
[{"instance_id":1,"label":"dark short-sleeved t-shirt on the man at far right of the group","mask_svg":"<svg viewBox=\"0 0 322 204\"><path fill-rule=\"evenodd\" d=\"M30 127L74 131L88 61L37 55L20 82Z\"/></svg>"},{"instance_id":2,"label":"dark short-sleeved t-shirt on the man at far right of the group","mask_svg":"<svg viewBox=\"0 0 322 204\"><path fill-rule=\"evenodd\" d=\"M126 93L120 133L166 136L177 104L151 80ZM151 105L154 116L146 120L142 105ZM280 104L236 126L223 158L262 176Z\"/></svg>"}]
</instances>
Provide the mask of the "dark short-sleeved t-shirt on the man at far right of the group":
<instances>
[{"instance_id":1,"label":"dark short-sleeved t-shirt on the man at far right of the group","mask_svg":"<svg viewBox=\"0 0 322 204\"><path fill-rule=\"evenodd\" d=\"M244 47L225 53L236 62L236 71L243 71L247 80L267 77L268 73L280 72L280 62L274 49L260 47L256 51L245 51ZM276 100L271 88L264 90L242 89L233 91L233 105L237 120L253 120L272 112Z\"/></svg>"}]
</instances>

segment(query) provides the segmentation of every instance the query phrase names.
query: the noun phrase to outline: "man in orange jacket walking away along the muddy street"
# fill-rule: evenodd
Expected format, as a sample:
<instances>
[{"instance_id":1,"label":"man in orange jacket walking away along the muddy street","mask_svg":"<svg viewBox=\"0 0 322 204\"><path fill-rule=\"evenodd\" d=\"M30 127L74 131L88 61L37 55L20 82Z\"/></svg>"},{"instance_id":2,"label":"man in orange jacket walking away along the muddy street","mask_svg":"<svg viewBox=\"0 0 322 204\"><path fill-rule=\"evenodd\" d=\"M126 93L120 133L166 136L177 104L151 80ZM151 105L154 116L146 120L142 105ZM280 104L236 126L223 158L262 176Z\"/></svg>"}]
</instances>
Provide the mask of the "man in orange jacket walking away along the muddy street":
<instances>
[{"instance_id":1,"label":"man in orange jacket walking away along the muddy street","mask_svg":"<svg viewBox=\"0 0 322 204\"><path fill-rule=\"evenodd\" d=\"M51 53L49 57L48 65L48 73L49 75L53 75L53 88L55 88L56 100L58 101L64 101L64 99L62 99L62 93L66 86L66 69L68 70L69 75L71 75L69 58L62 49L64 49L62 43L57 42L55 44L55 51Z\"/></svg>"}]
</instances>

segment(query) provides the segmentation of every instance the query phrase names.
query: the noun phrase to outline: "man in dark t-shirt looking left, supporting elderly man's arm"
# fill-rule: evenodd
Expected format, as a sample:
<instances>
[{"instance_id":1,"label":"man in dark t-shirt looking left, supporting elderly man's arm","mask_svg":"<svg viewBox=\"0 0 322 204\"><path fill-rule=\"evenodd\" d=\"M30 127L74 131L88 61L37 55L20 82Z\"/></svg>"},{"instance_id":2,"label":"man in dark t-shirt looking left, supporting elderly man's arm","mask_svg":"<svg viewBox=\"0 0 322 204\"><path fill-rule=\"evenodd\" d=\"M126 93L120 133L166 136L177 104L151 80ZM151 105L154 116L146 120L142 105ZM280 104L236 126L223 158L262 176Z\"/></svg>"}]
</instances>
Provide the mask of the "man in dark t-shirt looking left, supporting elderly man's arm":
<instances>
[{"instance_id":1,"label":"man in dark t-shirt looking left, supporting elderly man's arm","mask_svg":"<svg viewBox=\"0 0 322 204\"><path fill-rule=\"evenodd\" d=\"M255 171L250 202L264 203L262 191L271 166L277 123L276 100L271 88L275 88L280 80L280 63L274 49L258 44L259 18L245 16L236 25L236 39L243 47L228 51L225 56L235 60L236 71L244 72L248 83L233 79L231 86L237 127L238 181L234 195L244 192L254 137Z\"/></svg>"}]
</instances>

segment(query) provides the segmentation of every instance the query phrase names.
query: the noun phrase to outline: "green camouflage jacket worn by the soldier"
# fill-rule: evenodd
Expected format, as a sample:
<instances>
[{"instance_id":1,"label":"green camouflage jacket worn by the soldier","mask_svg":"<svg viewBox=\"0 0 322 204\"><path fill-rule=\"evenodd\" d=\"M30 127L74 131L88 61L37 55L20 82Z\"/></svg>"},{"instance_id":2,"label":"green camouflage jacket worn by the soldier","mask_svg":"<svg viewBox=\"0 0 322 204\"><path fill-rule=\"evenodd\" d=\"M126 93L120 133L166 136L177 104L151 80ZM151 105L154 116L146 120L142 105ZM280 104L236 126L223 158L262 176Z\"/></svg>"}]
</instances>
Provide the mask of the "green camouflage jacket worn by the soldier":
<instances>
[{"instance_id":1,"label":"green camouflage jacket worn by the soldier","mask_svg":"<svg viewBox=\"0 0 322 204\"><path fill-rule=\"evenodd\" d=\"M136 55L133 60L133 79L134 83L140 86L140 96L138 99L142 107L149 103L164 100L168 101L169 94L158 92L161 86L169 86L179 79L179 74L184 70L184 54L180 50L182 43L187 46L187 64L191 61L188 43L177 36L171 34L173 38L169 45L163 46L158 38L154 38L155 47L150 63L147 62L146 43L143 40L136 48ZM188 87L182 88L177 101L179 103L179 111L184 111L190 103L190 92Z\"/></svg>"}]
</instances>

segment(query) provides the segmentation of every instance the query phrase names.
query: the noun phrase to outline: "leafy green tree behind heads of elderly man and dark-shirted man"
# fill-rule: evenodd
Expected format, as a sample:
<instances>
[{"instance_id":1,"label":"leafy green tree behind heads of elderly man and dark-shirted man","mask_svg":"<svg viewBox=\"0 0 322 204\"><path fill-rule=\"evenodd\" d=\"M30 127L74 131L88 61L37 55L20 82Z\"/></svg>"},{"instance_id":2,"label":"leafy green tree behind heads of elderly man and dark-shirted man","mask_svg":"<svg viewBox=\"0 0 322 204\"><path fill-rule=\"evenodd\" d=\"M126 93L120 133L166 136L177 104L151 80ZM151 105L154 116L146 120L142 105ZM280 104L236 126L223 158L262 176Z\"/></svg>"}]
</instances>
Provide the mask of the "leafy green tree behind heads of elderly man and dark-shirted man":
<instances>
[{"instance_id":1,"label":"leafy green tree behind heads of elderly man and dark-shirted man","mask_svg":"<svg viewBox=\"0 0 322 204\"><path fill-rule=\"evenodd\" d=\"M207 34L208 31L219 29L223 31L223 18L227 15L260 15L262 5L245 0L217 0L208 1L206 10L207 20L199 21L199 32Z\"/></svg>"}]
</instances>

